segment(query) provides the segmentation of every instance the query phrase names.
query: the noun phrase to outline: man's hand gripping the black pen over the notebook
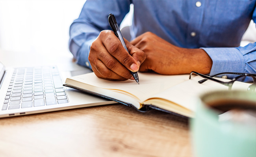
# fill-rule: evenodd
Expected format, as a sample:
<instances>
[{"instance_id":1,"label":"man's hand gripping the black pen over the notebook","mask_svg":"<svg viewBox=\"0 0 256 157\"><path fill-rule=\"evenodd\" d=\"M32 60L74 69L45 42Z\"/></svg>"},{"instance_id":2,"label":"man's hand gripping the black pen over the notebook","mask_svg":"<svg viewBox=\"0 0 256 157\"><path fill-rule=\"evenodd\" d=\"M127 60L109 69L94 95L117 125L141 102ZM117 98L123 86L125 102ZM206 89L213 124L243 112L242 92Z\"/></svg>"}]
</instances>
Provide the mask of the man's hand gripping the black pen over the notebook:
<instances>
[{"instance_id":1,"label":"man's hand gripping the black pen over the notebook","mask_svg":"<svg viewBox=\"0 0 256 157\"><path fill-rule=\"evenodd\" d=\"M138 71L146 55L126 39L124 41L130 54L110 30L101 31L91 44L88 58L97 77L108 80L134 80L130 71Z\"/></svg>"}]
</instances>

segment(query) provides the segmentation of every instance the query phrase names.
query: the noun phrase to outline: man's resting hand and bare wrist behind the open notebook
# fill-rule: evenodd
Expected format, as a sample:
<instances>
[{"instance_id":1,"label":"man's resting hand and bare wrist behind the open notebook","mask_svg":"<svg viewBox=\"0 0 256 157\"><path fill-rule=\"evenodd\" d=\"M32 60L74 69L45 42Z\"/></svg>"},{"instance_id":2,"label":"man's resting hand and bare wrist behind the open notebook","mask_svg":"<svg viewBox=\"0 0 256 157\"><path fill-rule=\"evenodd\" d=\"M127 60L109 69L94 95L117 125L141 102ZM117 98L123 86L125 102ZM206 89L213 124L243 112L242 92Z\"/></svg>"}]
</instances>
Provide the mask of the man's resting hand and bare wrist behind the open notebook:
<instances>
[{"instance_id":1,"label":"man's resting hand and bare wrist behind the open notebook","mask_svg":"<svg viewBox=\"0 0 256 157\"><path fill-rule=\"evenodd\" d=\"M154 33L146 32L130 42L146 54L139 71L155 71L162 75L210 73L212 60L203 49L174 46Z\"/></svg>"}]
</instances>

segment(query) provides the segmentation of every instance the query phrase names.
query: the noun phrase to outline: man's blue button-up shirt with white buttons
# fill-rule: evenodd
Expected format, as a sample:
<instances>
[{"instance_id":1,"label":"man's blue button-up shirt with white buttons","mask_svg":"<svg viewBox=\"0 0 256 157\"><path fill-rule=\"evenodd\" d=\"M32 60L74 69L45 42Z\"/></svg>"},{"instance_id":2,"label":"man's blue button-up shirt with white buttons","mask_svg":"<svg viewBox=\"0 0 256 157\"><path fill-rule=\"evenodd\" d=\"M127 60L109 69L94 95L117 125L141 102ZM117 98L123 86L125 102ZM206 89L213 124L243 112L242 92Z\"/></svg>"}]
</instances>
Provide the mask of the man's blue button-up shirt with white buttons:
<instances>
[{"instance_id":1,"label":"man's blue button-up shirt with white buttons","mask_svg":"<svg viewBox=\"0 0 256 157\"><path fill-rule=\"evenodd\" d=\"M87 0L70 26L69 48L78 64L91 68L90 46L100 31L111 30L109 13L120 24L130 4L132 39L150 31L175 46L202 48L213 61L210 75L256 73L256 43L239 47L250 20L256 22L255 0Z\"/></svg>"}]
</instances>

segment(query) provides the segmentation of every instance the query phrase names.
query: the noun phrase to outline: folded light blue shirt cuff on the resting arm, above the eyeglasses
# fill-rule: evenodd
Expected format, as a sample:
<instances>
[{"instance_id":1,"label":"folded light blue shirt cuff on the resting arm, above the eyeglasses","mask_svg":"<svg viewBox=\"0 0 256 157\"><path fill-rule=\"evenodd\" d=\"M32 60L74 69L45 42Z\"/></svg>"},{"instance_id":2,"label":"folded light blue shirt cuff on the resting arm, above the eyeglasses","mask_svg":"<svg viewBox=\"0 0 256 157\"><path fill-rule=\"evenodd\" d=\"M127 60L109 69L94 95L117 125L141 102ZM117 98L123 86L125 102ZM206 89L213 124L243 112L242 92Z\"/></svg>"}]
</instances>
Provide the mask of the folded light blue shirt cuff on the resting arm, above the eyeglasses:
<instances>
[{"instance_id":1,"label":"folded light blue shirt cuff on the resting arm, above the eyeglasses","mask_svg":"<svg viewBox=\"0 0 256 157\"><path fill-rule=\"evenodd\" d=\"M211 75L222 72L241 72L245 69L243 54L234 47L228 48L204 48L212 60Z\"/></svg>"}]
</instances>

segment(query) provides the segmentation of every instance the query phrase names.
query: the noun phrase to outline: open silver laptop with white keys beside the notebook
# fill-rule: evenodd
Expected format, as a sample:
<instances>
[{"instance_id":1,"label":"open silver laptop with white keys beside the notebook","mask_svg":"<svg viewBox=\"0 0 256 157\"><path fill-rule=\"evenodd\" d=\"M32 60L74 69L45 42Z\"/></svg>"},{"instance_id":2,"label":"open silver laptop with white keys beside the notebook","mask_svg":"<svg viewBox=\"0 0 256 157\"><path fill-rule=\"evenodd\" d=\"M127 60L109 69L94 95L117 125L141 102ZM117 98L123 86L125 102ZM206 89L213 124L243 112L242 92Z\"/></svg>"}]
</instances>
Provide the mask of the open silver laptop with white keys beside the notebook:
<instances>
[{"instance_id":1,"label":"open silver laptop with white keys beside the notebook","mask_svg":"<svg viewBox=\"0 0 256 157\"><path fill-rule=\"evenodd\" d=\"M57 66L6 69L0 62L0 118L116 103L64 87L62 77Z\"/></svg>"}]
</instances>

